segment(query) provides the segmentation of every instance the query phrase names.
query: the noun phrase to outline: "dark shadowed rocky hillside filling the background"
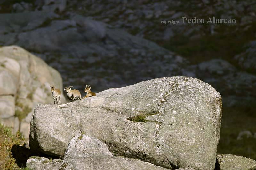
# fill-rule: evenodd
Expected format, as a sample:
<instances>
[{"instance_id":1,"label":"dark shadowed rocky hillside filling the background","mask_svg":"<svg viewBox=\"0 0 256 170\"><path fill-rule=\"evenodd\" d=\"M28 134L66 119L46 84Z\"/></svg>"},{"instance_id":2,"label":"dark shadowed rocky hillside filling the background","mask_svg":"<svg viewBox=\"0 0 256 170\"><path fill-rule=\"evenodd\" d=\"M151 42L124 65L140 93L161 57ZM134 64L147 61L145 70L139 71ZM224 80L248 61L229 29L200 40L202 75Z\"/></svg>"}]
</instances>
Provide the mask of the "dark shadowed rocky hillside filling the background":
<instances>
[{"instance_id":1,"label":"dark shadowed rocky hillside filling the background","mask_svg":"<svg viewBox=\"0 0 256 170\"><path fill-rule=\"evenodd\" d=\"M218 152L256 159L255 5L252 0L3 0L0 45L19 45L40 56L60 72L64 86L80 91L85 84L100 92L166 76L199 78L222 95ZM236 24L161 23L183 16L232 18Z\"/></svg>"}]
</instances>

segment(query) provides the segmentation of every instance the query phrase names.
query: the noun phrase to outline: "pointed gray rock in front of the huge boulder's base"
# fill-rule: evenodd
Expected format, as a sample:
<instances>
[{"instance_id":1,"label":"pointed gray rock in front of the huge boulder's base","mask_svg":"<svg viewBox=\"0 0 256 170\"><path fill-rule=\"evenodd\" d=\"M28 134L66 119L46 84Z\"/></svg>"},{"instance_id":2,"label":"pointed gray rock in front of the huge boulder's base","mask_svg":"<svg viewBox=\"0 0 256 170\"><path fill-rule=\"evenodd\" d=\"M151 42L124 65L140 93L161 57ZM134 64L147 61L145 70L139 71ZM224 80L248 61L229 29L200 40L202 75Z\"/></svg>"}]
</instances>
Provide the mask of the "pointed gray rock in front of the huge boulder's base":
<instances>
[{"instance_id":1,"label":"pointed gray rock in front of the huge boulder's base","mask_svg":"<svg viewBox=\"0 0 256 170\"><path fill-rule=\"evenodd\" d=\"M165 169L137 159L113 156L106 144L82 134L76 134L69 144L60 170L72 169Z\"/></svg>"}]
</instances>

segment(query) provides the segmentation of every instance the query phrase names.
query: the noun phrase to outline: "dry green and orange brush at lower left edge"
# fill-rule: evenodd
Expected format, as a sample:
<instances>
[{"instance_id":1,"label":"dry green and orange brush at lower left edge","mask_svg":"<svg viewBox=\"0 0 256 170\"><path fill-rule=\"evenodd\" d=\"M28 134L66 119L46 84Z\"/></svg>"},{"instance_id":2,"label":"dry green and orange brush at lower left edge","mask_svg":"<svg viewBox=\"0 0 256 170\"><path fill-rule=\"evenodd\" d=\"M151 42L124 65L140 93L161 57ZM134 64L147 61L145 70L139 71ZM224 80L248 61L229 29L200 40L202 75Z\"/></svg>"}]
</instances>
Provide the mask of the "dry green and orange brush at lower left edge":
<instances>
[{"instance_id":1,"label":"dry green and orange brush at lower left edge","mask_svg":"<svg viewBox=\"0 0 256 170\"><path fill-rule=\"evenodd\" d=\"M15 159L12 157L11 149L14 146L24 145L26 145L25 139L21 137L19 131L16 135L12 135L12 128L0 123L0 169L12 170L18 168Z\"/></svg>"}]
</instances>

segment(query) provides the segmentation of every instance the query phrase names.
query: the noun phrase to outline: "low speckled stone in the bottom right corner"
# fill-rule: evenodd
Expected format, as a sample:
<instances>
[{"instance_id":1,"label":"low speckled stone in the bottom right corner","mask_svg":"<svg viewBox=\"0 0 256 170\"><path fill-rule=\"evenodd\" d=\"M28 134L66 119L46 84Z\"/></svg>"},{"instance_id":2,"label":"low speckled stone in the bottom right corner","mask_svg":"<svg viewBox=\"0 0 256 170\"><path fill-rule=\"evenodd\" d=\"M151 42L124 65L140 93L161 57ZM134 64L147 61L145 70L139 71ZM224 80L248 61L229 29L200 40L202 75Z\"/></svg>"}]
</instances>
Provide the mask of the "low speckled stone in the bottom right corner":
<instances>
[{"instance_id":1,"label":"low speckled stone in the bottom right corner","mask_svg":"<svg viewBox=\"0 0 256 170\"><path fill-rule=\"evenodd\" d=\"M217 155L216 166L220 170L255 170L256 161L237 155Z\"/></svg>"}]
</instances>

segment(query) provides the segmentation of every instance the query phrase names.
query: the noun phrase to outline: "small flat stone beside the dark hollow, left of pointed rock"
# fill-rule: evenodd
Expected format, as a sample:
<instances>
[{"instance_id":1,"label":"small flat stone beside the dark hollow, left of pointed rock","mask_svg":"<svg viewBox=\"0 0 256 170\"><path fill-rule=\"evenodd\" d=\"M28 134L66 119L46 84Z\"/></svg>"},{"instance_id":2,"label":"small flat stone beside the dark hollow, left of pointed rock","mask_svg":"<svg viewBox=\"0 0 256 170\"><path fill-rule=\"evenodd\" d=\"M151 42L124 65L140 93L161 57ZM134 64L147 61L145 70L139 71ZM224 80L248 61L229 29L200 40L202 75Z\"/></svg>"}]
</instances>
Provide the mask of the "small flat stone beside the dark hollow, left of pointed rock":
<instances>
[{"instance_id":1,"label":"small flat stone beside the dark hollow, left of pointed rock","mask_svg":"<svg viewBox=\"0 0 256 170\"><path fill-rule=\"evenodd\" d=\"M33 170L59 170L61 163L61 159L50 160L44 157L31 156L27 160L26 166Z\"/></svg>"}]
</instances>

